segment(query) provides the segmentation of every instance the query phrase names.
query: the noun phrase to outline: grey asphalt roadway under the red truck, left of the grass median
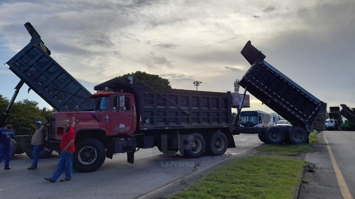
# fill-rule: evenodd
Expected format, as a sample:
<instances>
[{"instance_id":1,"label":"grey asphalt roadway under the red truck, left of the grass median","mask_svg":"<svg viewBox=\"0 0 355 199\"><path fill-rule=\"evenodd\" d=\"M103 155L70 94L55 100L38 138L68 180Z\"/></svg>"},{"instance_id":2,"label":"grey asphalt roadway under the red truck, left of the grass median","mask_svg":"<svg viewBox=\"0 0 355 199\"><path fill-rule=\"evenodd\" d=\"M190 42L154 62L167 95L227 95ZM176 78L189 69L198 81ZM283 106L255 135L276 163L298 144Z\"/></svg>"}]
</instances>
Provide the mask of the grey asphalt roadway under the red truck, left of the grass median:
<instances>
[{"instance_id":1,"label":"grey asphalt roadway under the red truck, left of the grass median","mask_svg":"<svg viewBox=\"0 0 355 199\"><path fill-rule=\"evenodd\" d=\"M137 198L175 181L187 174L201 170L213 163L250 149L262 143L257 134L235 135L236 148L229 148L221 156L203 156L197 159L182 159L181 156L165 157L157 147L140 149L135 154L135 163L127 163L126 154L115 154L106 159L100 169L91 173L74 170L73 180L45 181L51 177L59 161L58 154L40 159L38 169L27 170L32 159L26 154L15 155L10 161L11 170L0 169L1 198Z\"/></svg>"}]
</instances>

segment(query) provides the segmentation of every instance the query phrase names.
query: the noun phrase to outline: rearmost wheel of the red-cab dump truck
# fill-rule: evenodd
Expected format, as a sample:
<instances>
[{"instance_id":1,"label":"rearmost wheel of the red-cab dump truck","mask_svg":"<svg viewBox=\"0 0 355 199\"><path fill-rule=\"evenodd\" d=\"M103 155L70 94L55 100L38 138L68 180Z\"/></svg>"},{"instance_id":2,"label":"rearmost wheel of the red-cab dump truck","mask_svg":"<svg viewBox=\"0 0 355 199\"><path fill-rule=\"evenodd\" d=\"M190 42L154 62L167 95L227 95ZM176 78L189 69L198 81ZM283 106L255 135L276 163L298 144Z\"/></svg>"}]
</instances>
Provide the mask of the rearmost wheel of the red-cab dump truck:
<instances>
[{"instance_id":1,"label":"rearmost wheel of the red-cab dump truck","mask_svg":"<svg viewBox=\"0 0 355 199\"><path fill-rule=\"evenodd\" d=\"M227 136L223 132L213 132L206 137L206 153L209 155L223 155L228 147Z\"/></svg>"}]
</instances>

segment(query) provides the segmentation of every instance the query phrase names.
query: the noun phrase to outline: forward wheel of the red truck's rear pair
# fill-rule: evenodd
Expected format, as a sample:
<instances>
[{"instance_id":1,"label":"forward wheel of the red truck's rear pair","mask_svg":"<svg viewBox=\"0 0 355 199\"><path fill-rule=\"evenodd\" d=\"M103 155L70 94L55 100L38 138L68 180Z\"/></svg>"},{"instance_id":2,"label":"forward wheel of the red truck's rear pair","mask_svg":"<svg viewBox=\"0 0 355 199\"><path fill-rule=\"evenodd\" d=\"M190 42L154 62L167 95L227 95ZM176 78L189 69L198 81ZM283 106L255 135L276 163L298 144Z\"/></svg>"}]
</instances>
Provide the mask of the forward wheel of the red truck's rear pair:
<instances>
[{"instance_id":1,"label":"forward wheel of the red truck's rear pair","mask_svg":"<svg viewBox=\"0 0 355 199\"><path fill-rule=\"evenodd\" d=\"M205 148L203 136L200 133L192 133L182 136L179 152L185 157L198 158L204 153Z\"/></svg>"}]
</instances>

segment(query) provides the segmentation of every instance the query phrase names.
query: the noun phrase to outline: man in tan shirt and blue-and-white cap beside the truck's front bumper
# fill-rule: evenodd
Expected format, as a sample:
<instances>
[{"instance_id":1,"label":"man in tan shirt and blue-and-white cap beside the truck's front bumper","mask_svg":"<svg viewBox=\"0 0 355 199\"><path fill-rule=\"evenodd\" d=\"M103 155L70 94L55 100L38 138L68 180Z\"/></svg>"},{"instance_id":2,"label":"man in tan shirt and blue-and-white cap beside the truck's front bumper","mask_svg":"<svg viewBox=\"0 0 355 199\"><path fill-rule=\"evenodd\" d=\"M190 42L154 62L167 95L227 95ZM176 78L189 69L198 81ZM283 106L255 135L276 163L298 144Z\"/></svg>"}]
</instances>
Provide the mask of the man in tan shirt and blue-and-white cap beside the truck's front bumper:
<instances>
[{"instance_id":1,"label":"man in tan shirt and blue-and-white cap beside the truck's front bumper","mask_svg":"<svg viewBox=\"0 0 355 199\"><path fill-rule=\"evenodd\" d=\"M43 138L47 131L45 126L42 126L42 121L37 121L36 125L37 125L37 130L34 132L31 139L31 145L33 148L33 152L32 152L33 161L32 161L32 165L27 168L28 170L37 169L40 149L43 144Z\"/></svg>"}]
</instances>

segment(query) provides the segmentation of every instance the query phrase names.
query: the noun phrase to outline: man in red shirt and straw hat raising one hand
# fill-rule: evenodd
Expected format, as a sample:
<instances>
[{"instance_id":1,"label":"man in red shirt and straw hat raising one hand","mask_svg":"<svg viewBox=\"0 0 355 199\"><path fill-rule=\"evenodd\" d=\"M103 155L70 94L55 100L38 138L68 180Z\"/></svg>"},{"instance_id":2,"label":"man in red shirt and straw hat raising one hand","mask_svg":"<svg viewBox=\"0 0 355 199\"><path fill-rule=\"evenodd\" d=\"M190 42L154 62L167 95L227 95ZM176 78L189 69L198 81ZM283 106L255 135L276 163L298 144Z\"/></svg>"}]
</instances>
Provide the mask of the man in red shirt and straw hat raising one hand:
<instances>
[{"instance_id":1,"label":"man in red shirt and straw hat raising one hand","mask_svg":"<svg viewBox=\"0 0 355 199\"><path fill-rule=\"evenodd\" d=\"M73 117L72 120L72 122L69 120L63 120L60 122L64 129L63 137L60 141L60 160L57 170L54 172L52 177L44 178L44 180L55 182L63 171L65 172L65 178L60 181L63 182L71 180L71 174L73 173L73 154L75 152L75 117Z\"/></svg>"}]
</instances>

